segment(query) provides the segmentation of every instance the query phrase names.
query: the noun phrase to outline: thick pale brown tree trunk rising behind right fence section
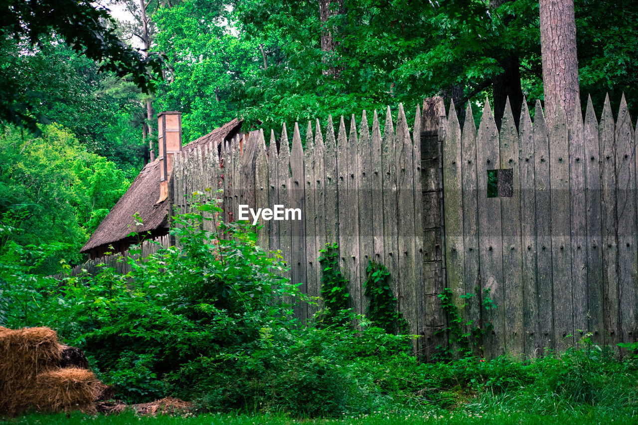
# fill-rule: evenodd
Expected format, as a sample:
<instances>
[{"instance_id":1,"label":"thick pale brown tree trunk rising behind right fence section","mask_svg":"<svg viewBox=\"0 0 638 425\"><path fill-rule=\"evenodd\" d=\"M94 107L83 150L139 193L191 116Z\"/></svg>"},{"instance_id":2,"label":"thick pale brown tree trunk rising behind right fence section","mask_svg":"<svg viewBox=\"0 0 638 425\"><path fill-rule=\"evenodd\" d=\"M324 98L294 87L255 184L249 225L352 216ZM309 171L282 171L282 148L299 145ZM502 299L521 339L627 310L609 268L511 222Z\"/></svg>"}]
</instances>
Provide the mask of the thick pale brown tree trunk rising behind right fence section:
<instances>
[{"instance_id":1,"label":"thick pale brown tree trunk rising behind right fence section","mask_svg":"<svg viewBox=\"0 0 638 425\"><path fill-rule=\"evenodd\" d=\"M574 0L540 0L539 8L545 118L551 123L559 103L567 119L581 107Z\"/></svg>"}]
</instances>

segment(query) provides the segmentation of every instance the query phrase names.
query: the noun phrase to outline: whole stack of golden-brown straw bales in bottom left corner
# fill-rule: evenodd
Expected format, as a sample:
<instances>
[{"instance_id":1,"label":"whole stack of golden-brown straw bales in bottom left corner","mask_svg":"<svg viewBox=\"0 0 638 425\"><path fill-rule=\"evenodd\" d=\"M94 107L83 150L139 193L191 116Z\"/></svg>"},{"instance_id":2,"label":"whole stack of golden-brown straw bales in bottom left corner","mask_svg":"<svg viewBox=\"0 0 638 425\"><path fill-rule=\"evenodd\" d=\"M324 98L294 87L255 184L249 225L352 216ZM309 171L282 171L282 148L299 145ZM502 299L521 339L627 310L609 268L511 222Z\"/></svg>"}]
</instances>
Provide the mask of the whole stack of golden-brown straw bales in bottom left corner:
<instances>
[{"instance_id":1,"label":"whole stack of golden-brown straw bales in bottom left corner","mask_svg":"<svg viewBox=\"0 0 638 425\"><path fill-rule=\"evenodd\" d=\"M105 385L87 369L61 368L63 346L48 327L0 327L0 414L96 411Z\"/></svg>"}]
</instances>

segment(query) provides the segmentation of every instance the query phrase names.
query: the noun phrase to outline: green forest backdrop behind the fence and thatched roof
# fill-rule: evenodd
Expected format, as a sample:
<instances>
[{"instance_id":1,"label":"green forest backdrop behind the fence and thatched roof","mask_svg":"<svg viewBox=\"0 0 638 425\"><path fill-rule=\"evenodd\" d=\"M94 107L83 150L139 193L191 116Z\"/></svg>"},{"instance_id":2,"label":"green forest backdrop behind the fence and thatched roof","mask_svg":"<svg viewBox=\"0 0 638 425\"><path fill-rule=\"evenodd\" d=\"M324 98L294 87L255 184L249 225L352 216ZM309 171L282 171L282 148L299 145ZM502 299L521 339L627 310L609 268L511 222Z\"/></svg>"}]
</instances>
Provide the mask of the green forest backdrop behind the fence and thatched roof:
<instances>
[{"instance_id":1,"label":"green forest backdrop behind the fence and thatched roof","mask_svg":"<svg viewBox=\"0 0 638 425\"><path fill-rule=\"evenodd\" d=\"M480 111L489 98L499 123L507 96L515 116L523 96L543 100L533 0L87 4L130 13L100 24L142 48L153 78L69 43L64 27L34 41L0 22L0 254L37 246L47 253L39 272L82 260L80 247L154 159L159 111L182 112L187 143L234 117L278 133L282 122L396 112L442 95L461 119L468 101ZM609 93L617 110L624 93L635 116L638 4L574 7L581 105L591 95L600 110Z\"/></svg>"}]
</instances>

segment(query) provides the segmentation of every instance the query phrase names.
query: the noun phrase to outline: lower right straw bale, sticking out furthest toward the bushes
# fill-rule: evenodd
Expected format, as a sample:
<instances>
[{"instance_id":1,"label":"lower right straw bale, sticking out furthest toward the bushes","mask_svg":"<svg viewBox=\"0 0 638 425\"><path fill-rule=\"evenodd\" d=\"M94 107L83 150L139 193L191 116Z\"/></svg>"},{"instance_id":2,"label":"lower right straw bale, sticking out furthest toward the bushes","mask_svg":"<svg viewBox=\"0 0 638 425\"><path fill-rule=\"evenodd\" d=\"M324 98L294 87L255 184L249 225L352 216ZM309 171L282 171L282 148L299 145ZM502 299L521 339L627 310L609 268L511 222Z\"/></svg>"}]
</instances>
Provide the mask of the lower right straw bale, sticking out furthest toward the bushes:
<instances>
[{"instance_id":1,"label":"lower right straw bale, sticking out furthest toward the bushes","mask_svg":"<svg viewBox=\"0 0 638 425\"><path fill-rule=\"evenodd\" d=\"M94 402L105 385L87 369L64 368L40 373L33 392L33 406L40 412L81 410L95 413Z\"/></svg>"}]
</instances>

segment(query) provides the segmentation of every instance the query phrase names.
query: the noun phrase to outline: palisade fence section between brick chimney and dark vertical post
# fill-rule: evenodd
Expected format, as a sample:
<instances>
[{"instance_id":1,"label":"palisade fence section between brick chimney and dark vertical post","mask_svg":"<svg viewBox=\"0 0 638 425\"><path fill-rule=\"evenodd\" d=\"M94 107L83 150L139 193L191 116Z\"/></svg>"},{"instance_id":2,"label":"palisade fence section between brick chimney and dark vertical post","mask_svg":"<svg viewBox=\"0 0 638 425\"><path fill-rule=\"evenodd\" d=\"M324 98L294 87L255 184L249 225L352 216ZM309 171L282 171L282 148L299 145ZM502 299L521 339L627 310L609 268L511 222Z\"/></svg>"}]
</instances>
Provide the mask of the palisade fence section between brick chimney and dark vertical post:
<instances>
[{"instance_id":1,"label":"palisade fence section between brick chimney and dark vertical post","mask_svg":"<svg viewBox=\"0 0 638 425\"><path fill-rule=\"evenodd\" d=\"M438 110L430 103L426 103L429 109ZM431 120L434 123L438 116L435 118ZM429 161L434 168L429 174L436 181L440 174L440 141L436 124L429 133L420 130L419 108L414 123L410 133L403 107L399 107L395 131L388 108L383 134L376 112L371 127L364 112L358 131L354 116L349 130L341 117L336 132L330 117L324 128L318 121L314 126L308 123L304 142L295 124L292 143L284 126L280 140L271 132L269 147L263 131L251 132L241 149L239 140L232 140L219 149L219 156L211 154L218 147L210 144L193 153L179 154L172 172L172 198L177 211L186 212L192 202L189 194L221 188L224 220L237 220L241 204L255 209L274 205L299 208L302 220L260 220L263 227L258 232L262 247L281 251L290 266L292 282L301 283L302 292L319 297L319 250L337 243L341 270L350 281L352 308L365 313L366 266L369 260L384 264L392 274L397 307L410 323L410 331L425 335L426 329L431 329L420 347L431 352L434 345L445 340L441 334L434 335L445 325L440 312L428 311L438 303L434 292L424 292L424 264L432 265L436 262L433 258L440 256L441 232L428 232L430 239L439 239L428 245L432 250L424 263L421 135L433 143L436 151L436 161ZM438 183L429 182L430 186L434 184ZM433 193L438 200L438 188ZM428 222L440 221L440 210L436 216ZM437 260L441 290L442 267L440 258ZM300 318L311 318L318 308L303 304L296 313Z\"/></svg>"}]
</instances>

